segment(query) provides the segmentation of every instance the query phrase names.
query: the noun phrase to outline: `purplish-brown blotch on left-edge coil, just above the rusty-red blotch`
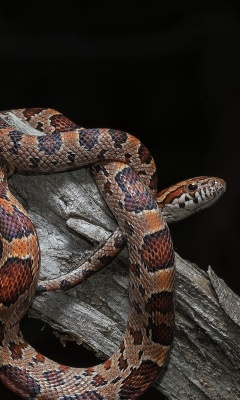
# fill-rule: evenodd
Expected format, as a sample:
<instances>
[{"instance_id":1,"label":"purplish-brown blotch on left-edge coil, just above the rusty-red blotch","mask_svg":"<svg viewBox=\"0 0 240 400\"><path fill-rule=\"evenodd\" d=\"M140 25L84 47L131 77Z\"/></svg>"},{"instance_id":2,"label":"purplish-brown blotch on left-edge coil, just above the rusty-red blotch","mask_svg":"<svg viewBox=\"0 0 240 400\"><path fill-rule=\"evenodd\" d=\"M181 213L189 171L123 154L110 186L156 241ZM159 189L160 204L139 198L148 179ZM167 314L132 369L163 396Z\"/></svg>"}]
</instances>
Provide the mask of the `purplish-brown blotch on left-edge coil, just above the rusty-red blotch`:
<instances>
[{"instance_id":1,"label":"purplish-brown blotch on left-edge coil, just above the rusty-red blotch","mask_svg":"<svg viewBox=\"0 0 240 400\"><path fill-rule=\"evenodd\" d=\"M0 231L1 236L11 242L13 239L30 236L34 228L30 219L15 205L12 206L12 213L0 205Z\"/></svg>"}]
</instances>

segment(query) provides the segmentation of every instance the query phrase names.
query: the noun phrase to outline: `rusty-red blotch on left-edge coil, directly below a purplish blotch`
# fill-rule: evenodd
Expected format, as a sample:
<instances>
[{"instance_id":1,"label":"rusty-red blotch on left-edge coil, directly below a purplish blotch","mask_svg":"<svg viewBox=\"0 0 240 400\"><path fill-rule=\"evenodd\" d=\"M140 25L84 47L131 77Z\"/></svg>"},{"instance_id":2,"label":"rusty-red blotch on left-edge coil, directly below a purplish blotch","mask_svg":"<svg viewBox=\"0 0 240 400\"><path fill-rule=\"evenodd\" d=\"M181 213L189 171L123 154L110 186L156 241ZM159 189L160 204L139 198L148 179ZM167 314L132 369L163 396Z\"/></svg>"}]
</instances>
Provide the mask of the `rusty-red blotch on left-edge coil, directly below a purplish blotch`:
<instances>
[{"instance_id":1,"label":"rusty-red blotch on left-edge coil, directly below a purplish blotch","mask_svg":"<svg viewBox=\"0 0 240 400\"><path fill-rule=\"evenodd\" d=\"M32 283L30 258L8 258L0 268L0 302L6 307L14 304Z\"/></svg>"}]
</instances>

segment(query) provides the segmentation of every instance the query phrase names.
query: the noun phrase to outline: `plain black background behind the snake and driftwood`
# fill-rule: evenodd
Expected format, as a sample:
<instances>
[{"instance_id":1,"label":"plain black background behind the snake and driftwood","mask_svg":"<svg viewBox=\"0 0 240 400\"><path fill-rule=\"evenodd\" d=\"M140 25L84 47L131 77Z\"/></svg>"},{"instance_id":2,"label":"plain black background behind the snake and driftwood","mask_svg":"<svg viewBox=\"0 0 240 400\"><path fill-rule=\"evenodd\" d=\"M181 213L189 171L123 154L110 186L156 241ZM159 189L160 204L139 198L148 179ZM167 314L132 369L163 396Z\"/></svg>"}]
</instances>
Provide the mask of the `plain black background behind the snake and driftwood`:
<instances>
[{"instance_id":1,"label":"plain black background behind the snake and driftwood","mask_svg":"<svg viewBox=\"0 0 240 400\"><path fill-rule=\"evenodd\" d=\"M240 294L238 2L43 0L0 12L1 110L51 107L132 133L155 158L159 190L226 180L218 203L171 232L182 257Z\"/></svg>"}]
</instances>

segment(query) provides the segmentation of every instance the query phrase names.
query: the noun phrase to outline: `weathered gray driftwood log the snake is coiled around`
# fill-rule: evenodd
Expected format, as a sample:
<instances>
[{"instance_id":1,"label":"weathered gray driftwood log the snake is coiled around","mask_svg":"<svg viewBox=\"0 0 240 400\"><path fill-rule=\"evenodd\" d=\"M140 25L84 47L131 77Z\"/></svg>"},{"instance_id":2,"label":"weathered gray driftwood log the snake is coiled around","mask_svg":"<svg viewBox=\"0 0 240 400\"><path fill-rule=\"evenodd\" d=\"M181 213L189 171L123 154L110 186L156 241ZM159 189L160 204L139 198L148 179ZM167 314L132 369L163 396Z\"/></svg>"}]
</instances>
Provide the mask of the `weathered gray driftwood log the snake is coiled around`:
<instances>
[{"instance_id":1,"label":"weathered gray driftwood log the snake is coiled around","mask_svg":"<svg viewBox=\"0 0 240 400\"><path fill-rule=\"evenodd\" d=\"M116 227L87 168L15 175L10 186L36 225L42 279L75 268ZM169 399L240 399L240 299L211 268L176 258L176 334L155 387ZM126 249L78 287L36 296L29 311L103 359L118 346L127 314Z\"/></svg>"}]
</instances>

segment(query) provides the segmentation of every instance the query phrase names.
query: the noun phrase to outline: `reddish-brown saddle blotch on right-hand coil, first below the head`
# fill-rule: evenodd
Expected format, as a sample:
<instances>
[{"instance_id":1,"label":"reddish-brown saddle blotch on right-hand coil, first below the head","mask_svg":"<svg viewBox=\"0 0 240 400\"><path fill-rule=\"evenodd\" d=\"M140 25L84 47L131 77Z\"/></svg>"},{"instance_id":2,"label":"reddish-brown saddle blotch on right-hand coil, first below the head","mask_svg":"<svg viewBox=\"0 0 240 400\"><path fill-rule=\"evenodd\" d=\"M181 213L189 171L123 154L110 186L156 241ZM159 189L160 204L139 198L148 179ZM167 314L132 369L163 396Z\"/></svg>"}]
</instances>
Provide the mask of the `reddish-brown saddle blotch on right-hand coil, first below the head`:
<instances>
[{"instance_id":1,"label":"reddish-brown saddle blotch on right-hand coil, first below the head","mask_svg":"<svg viewBox=\"0 0 240 400\"><path fill-rule=\"evenodd\" d=\"M141 257L151 272L174 266L174 251L167 225L160 231L144 236Z\"/></svg>"}]
</instances>

